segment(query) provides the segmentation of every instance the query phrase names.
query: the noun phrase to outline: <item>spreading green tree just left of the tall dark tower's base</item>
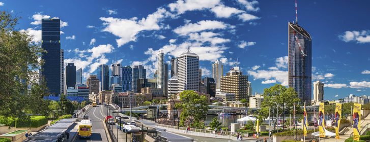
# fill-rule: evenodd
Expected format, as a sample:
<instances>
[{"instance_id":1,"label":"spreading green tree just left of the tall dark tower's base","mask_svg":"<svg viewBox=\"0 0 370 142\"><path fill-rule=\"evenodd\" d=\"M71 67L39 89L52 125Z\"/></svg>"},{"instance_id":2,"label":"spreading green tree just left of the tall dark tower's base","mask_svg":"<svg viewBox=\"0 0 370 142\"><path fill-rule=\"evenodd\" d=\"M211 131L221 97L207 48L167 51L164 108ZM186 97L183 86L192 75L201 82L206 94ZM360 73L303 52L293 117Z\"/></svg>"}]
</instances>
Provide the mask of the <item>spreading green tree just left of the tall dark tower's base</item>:
<instances>
[{"instance_id":1,"label":"spreading green tree just left of the tall dark tower's base","mask_svg":"<svg viewBox=\"0 0 370 142\"><path fill-rule=\"evenodd\" d=\"M264 100L261 103L261 109L257 113L257 118L260 120L266 119L269 116L270 109L270 116L274 123L275 130L277 120L274 117L276 117L276 115L281 116L286 112L291 112L293 110L293 103L295 102L298 104L298 102L300 102L297 92L295 92L293 88L286 88L280 84L265 88L263 96ZM274 102L276 102L278 106ZM278 114L277 108L279 108ZM296 105L296 109L298 108L299 105Z\"/></svg>"}]
</instances>

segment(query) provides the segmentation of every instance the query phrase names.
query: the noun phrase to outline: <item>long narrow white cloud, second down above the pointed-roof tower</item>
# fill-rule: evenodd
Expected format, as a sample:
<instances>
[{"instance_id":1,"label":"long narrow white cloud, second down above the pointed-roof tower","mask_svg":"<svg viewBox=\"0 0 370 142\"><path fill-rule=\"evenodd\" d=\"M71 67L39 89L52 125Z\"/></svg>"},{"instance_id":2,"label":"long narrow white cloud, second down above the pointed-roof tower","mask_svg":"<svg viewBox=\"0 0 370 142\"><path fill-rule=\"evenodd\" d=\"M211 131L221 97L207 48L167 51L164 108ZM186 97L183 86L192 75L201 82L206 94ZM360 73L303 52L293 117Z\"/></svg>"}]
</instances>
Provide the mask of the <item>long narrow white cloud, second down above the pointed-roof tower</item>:
<instances>
[{"instance_id":1,"label":"long narrow white cloud, second down above the pointed-roof tower","mask_svg":"<svg viewBox=\"0 0 370 142\"><path fill-rule=\"evenodd\" d=\"M225 29L229 24L221 21L202 20L197 23L188 23L174 29L174 32L180 35L186 35L191 32L198 32L203 30Z\"/></svg>"}]
</instances>

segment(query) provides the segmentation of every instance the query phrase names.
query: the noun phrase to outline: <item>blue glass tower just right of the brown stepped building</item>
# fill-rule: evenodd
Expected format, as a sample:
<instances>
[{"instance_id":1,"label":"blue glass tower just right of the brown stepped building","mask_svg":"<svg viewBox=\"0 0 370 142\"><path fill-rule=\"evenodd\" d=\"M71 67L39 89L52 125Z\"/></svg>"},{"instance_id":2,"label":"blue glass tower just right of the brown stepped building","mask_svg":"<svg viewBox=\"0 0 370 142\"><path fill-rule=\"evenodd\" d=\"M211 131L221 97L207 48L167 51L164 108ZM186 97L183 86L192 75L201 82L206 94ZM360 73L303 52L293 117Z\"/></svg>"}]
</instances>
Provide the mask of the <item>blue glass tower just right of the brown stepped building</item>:
<instances>
[{"instance_id":1,"label":"blue glass tower just right of the brown stepped building","mask_svg":"<svg viewBox=\"0 0 370 142\"><path fill-rule=\"evenodd\" d=\"M100 90L109 90L109 67L106 64L100 64L98 66L98 79L100 81Z\"/></svg>"}]
</instances>

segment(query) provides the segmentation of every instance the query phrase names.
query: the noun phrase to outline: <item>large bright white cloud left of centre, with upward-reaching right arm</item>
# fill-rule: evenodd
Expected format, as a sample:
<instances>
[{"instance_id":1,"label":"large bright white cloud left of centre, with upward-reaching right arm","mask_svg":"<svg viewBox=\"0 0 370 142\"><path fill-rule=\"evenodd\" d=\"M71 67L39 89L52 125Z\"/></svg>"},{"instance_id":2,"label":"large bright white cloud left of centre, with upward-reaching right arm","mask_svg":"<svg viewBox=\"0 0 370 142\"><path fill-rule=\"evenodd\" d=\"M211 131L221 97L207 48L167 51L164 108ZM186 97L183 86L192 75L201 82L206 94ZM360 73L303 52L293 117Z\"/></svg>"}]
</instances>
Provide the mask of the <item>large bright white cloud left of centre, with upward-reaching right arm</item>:
<instances>
[{"instance_id":1,"label":"large bright white cloud left of centre, with upward-reaching right arm","mask_svg":"<svg viewBox=\"0 0 370 142\"><path fill-rule=\"evenodd\" d=\"M163 18L173 16L167 12L164 8L157 9L156 12L148 15L146 18L137 20L136 17L131 19L120 19L112 17L100 17L100 20L104 21L103 25L105 28L103 31L110 32L119 39L116 40L118 47L130 42L136 41L136 34L143 30L159 30L163 28L158 23Z\"/></svg>"}]
</instances>

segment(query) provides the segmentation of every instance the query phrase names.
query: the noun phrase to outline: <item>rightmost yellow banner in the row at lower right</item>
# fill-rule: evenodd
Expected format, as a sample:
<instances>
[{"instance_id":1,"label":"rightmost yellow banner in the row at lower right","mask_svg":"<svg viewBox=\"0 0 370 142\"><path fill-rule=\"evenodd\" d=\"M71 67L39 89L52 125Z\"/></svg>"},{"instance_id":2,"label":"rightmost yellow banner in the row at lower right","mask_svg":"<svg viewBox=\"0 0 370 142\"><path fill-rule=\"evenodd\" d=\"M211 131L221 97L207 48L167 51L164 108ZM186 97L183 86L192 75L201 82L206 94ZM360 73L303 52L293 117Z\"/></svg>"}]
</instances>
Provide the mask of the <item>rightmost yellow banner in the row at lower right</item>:
<instances>
[{"instance_id":1,"label":"rightmost yellow banner in the row at lower right","mask_svg":"<svg viewBox=\"0 0 370 142\"><path fill-rule=\"evenodd\" d=\"M360 120L361 120L361 104L354 103L353 104L353 140L360 140Z\"/></svg>"}]
</instances>

